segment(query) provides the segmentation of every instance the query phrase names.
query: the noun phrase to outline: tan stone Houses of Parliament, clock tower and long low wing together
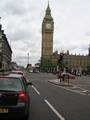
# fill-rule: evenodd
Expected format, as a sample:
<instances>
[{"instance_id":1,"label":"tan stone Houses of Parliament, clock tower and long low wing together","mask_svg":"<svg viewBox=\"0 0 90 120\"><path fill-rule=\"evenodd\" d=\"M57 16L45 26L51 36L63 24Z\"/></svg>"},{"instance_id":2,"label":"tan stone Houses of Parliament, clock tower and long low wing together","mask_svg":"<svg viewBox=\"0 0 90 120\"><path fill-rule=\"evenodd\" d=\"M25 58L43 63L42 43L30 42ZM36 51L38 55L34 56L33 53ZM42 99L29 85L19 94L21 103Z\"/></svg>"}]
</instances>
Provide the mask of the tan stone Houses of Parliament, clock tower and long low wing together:
<instances>
[{"instance_id":1,"label":"tan stone Houses of Parliament, clock tower and long low wing together","mask_svg":"<svg viewBox=\"0 0 90 120\"><path fill-rule=\"evenodd\" d=\"M53 52L53 32L54 32L54 20L51 16L51 9L48 3L45 17L42 22L42 50L41 50L41 64L45 64L45 61L49 63L57 64L60 54ZM72 55L63 53L63 63L72 69L87 69L90 66L90 46L88 49L88 55Z\"/></svg>"}]
</instances>

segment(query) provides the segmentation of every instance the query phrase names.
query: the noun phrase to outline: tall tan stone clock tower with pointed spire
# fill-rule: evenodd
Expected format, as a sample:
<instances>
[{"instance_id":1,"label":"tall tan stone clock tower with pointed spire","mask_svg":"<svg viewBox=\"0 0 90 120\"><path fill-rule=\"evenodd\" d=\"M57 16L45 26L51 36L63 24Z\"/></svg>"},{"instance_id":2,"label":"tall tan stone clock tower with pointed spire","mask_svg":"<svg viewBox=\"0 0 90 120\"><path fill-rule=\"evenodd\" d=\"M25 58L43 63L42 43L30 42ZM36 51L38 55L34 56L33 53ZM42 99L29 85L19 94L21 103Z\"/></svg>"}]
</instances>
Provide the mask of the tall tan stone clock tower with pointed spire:
<instances>
[{"instance_id":1,"label":"tall tan stone clock tower with pointed spire","mask_svg":"<svg viewBox=\"0 0 90 120\"><path fill-rule=\"evenodd\" d=\"M53 31L54 22L51 16L49 3L46 9L45 17L42 22L42 55L41 60L51 60L53 54Z\"/></svg>"}]
</instances>

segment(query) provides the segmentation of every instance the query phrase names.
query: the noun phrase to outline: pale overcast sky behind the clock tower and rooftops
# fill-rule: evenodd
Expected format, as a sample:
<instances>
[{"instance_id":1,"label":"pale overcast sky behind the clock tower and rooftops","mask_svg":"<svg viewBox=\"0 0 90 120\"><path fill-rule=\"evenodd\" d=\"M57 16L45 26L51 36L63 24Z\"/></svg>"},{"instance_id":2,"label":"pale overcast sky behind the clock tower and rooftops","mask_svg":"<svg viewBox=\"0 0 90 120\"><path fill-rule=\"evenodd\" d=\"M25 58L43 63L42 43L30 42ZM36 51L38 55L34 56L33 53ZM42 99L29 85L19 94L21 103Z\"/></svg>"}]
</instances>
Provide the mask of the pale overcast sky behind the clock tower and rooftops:
<instances>
[{"instance_id":1,"label":"pale overcast sky behind the clock tower and rooftops","mask_svg":"<svg viewBox=\"0 0 90 120\"><path fill-rule=\"evenodd\" d=\"M54 19L54 51L88 54L90 0L49 0ZM41 57L41 25L48 0L0 0L2 29L11 45L12 60L26 66Z\"/></svg>"}]
</instances>

